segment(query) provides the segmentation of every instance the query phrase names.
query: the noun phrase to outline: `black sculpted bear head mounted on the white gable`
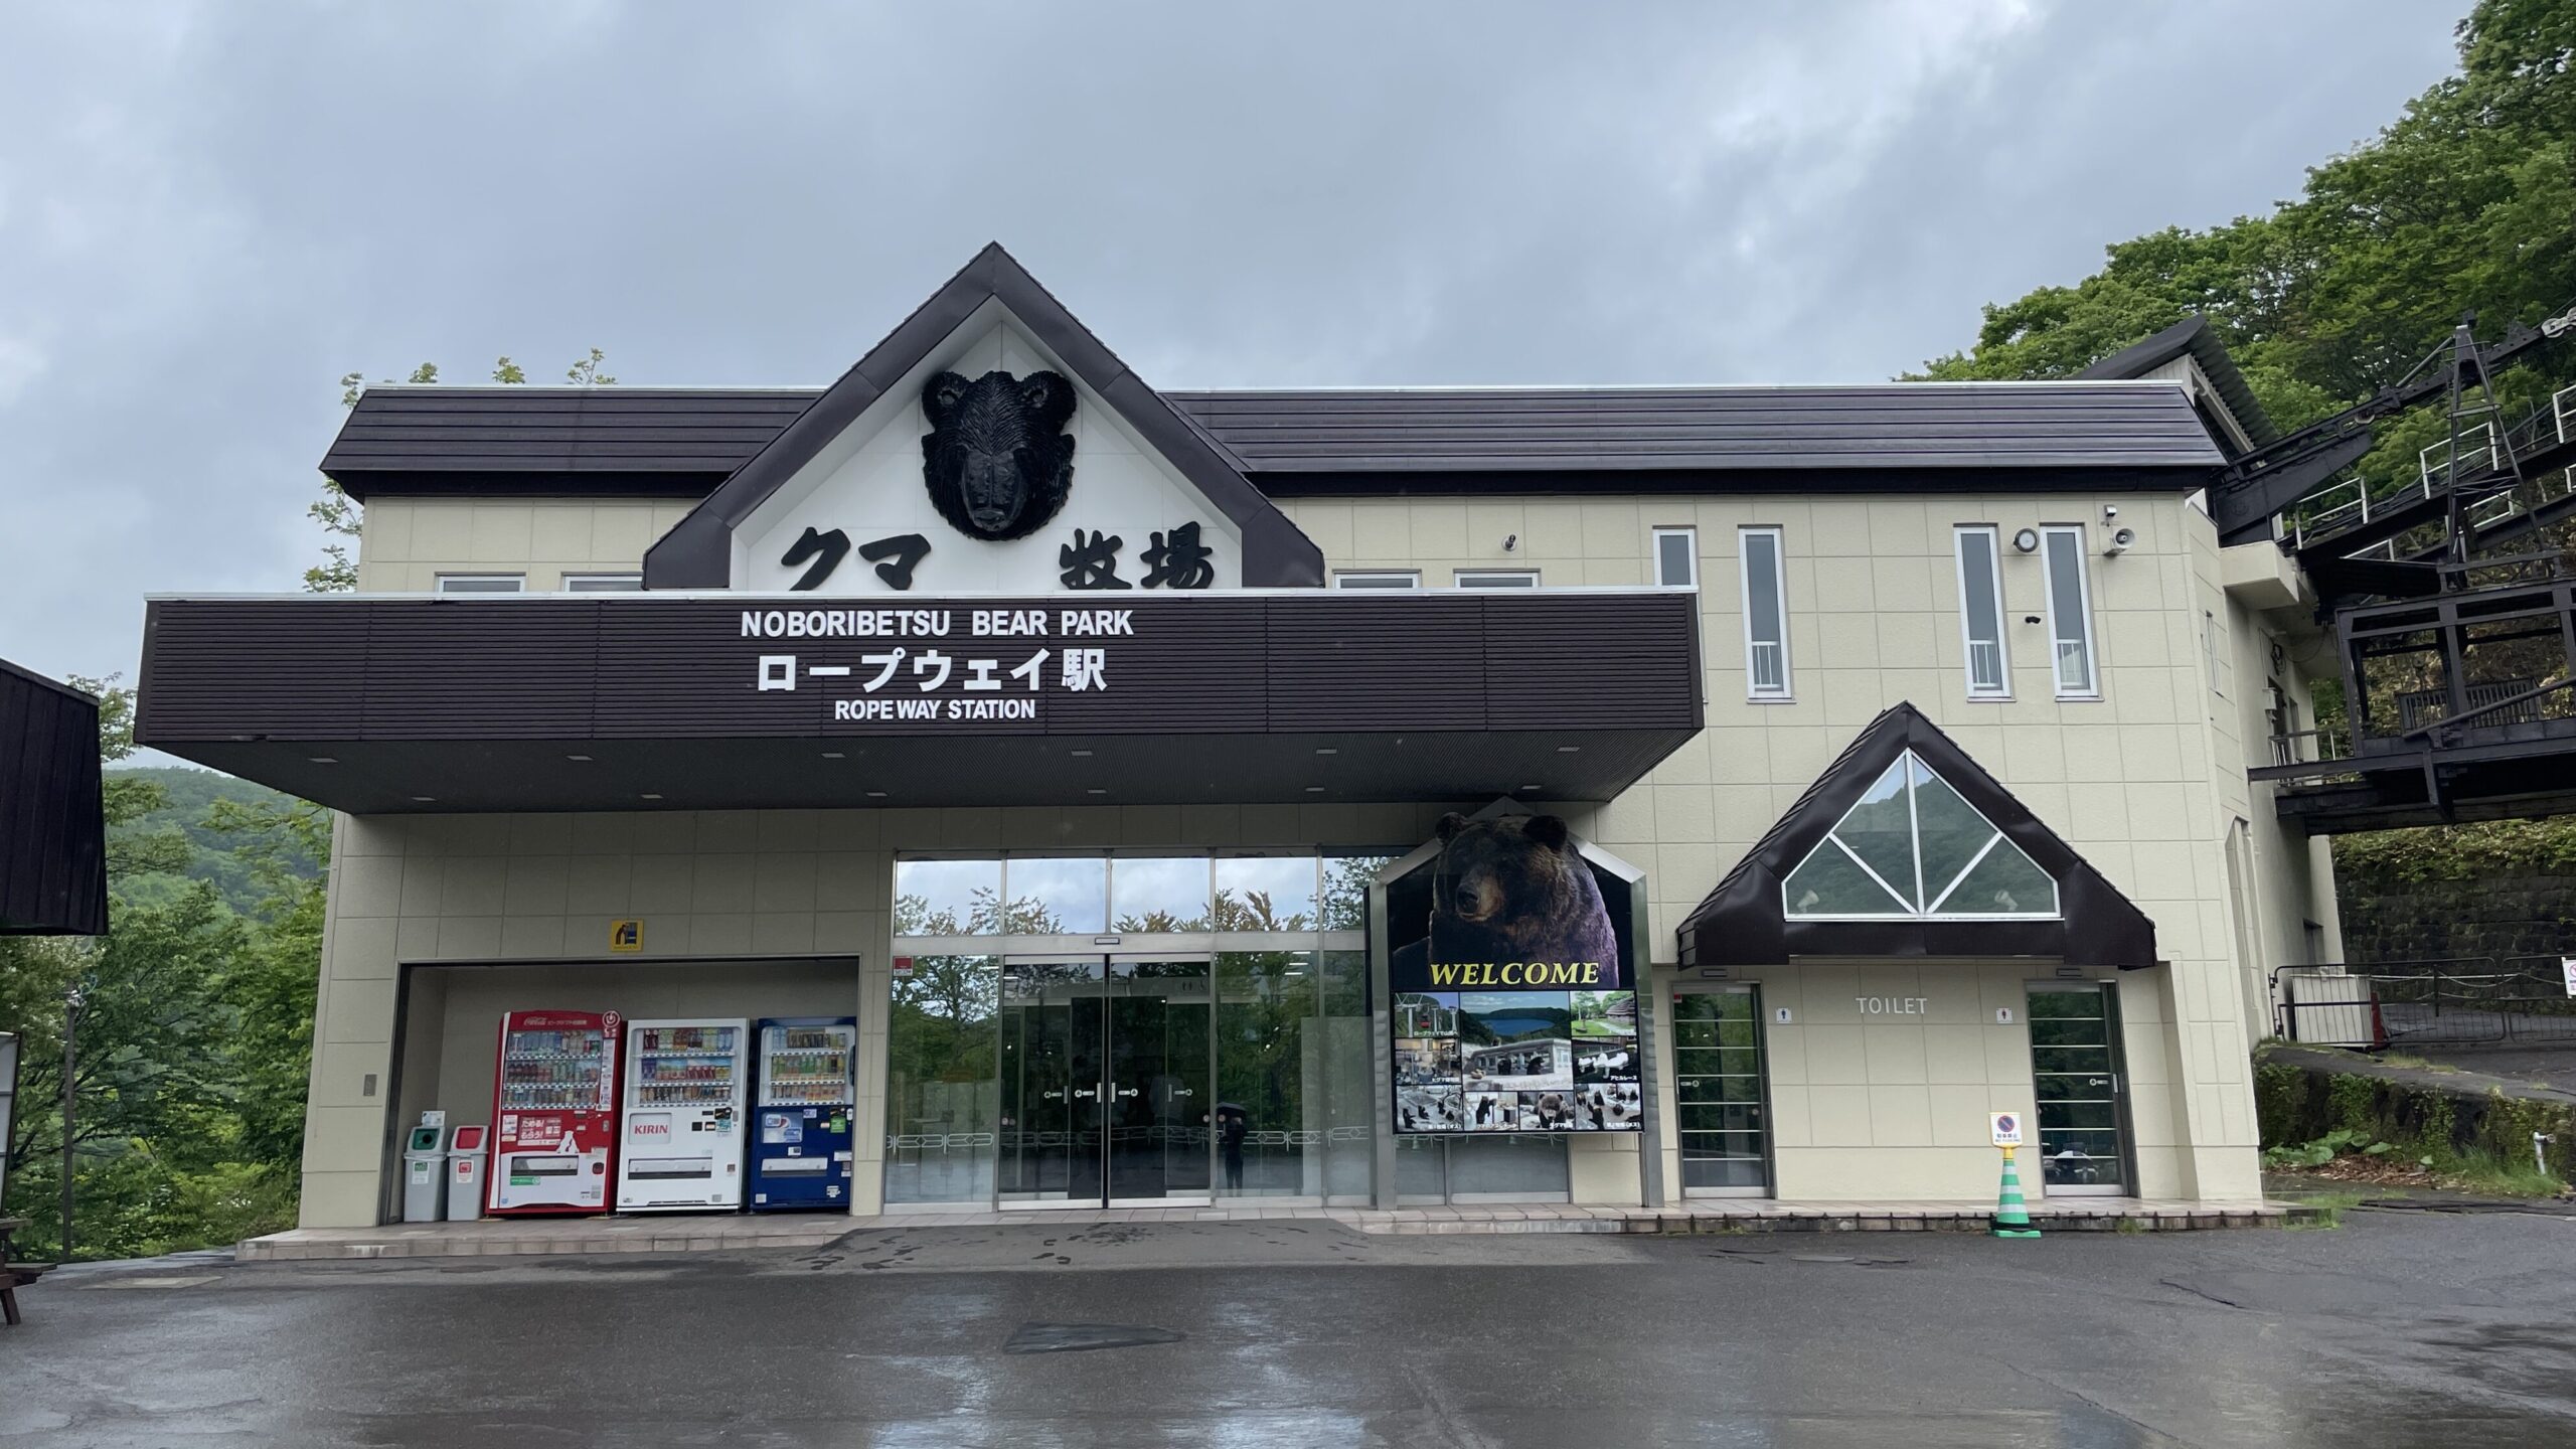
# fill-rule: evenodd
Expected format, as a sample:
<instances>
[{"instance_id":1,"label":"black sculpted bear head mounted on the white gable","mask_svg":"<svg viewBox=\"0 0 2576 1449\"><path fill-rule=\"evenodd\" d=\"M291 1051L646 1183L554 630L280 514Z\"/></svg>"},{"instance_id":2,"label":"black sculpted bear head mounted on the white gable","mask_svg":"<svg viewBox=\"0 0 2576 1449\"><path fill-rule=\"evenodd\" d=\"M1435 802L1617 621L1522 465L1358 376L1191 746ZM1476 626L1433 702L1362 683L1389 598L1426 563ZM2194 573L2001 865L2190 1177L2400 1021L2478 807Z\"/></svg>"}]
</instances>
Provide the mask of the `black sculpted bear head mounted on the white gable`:
<instances>
[{"instance_id":1,"label":"black sculpted bear head mounted on the white gable","mask_svg":"<svg viewBox=\"0 0 2576 1449\"><path fill-rule=\"evenodd\" d=\"M922 387L922 485L940 518L969 539L1025 539L1074 490L1074 384L1064 374L943 371Z\"/></svg>"}]
</instances>

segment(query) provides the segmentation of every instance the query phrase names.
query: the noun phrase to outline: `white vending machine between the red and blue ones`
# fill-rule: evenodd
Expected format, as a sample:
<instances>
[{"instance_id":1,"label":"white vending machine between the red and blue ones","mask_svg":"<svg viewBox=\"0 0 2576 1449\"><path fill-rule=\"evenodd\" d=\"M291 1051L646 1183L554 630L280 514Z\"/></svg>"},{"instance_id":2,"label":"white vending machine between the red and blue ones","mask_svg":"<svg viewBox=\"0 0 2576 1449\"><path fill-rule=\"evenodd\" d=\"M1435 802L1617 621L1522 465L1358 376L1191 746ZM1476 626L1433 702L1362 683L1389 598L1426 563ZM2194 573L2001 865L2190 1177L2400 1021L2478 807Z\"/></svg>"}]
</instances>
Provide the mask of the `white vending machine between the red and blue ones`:
<instances>
[{"instance_id":1,"label":"white vending machine between the red and blue ones","mask_svg":"<svg viewBox=\"0 0 2576 1449\"><path fill-rule=\"evenodd\" d=\"M618 1212L742 1207L752 1024L629 1021Z\"/></svg>"}]
</instances>

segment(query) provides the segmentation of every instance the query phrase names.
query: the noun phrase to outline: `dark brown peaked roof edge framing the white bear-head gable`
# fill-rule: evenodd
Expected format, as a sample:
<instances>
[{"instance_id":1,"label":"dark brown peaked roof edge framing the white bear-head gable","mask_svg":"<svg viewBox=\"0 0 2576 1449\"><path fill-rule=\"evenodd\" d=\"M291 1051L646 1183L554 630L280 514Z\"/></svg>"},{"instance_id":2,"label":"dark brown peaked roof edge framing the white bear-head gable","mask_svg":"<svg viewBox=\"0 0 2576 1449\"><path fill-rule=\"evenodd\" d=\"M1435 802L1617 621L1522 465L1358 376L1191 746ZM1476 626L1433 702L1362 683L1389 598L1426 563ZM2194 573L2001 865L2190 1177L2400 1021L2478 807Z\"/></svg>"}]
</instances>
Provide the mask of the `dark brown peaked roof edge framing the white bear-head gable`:
<instances>
[{"instance_id":1,"label":"dark brown peaked roof edge framing the white bear-head gable","mask_svg":"<svg viewBox=\"0 0 2576 1449\"><path fill-rule=\"evenodd\" d=\"M1301 588L1324 583L1324 557L1244 474L1170 402L1118 361L999 242L974 255L945 286L904 317L868 356L781 428L721 487L644 554L647 588L726 588L734 583L734 531L760 516L871 410L912 405L933 358L961 333L1007 315L1036 348L1108 407L1154 456L1198 490L1242 536L1242 583Z\"/></svg>"}]
</instances>

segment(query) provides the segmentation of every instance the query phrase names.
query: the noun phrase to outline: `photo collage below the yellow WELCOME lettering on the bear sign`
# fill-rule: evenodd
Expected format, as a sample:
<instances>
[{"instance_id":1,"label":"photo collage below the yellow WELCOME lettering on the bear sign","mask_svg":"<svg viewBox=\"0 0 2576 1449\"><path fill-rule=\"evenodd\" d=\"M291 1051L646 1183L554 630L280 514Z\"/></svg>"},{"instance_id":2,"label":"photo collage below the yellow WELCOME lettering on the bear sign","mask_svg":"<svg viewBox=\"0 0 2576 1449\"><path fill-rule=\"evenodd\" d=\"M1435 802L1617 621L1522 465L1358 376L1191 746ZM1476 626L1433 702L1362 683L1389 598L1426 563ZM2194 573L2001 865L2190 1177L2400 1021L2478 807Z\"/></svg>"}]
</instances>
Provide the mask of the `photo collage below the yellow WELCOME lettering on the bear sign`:
<instances>
[{"instance_id":1,"label":"photo collage below the yellow WELCOME lettering on the bear sign","mask_svg":"<svg viewBox=\"0 0 2576 1449\"><path fill-rule=\"evenodd\" d=\"M1396 1132L1638 1132L1631 990L1406 990Z\"/></svg>"}]
</instances>

